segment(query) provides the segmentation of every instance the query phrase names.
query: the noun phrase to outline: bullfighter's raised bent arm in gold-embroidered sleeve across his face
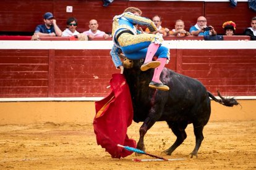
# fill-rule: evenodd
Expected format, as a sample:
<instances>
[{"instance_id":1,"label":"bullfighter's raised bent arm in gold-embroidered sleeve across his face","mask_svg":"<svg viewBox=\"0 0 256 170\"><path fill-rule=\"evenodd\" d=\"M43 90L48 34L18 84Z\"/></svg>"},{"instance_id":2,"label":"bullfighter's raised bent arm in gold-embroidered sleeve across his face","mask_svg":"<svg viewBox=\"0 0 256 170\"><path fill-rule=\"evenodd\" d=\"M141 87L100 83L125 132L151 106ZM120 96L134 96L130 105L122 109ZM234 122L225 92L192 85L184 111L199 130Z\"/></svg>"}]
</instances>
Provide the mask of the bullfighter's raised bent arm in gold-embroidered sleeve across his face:
<instances>
[{"instance_id":1,"label":"bullfighter's raised bent arm in gold-embroidered sleeve across his face","mask_svg":"<svg viewBox=\"0 0 256 170\"><path fill-rule=\"evenodd\" d=\"M125 12L122 17L126 18L131 23L147 26L151 32L157 30L155 23L148 18L140 17L130 12Z\"/></svg>"}]
</instances>

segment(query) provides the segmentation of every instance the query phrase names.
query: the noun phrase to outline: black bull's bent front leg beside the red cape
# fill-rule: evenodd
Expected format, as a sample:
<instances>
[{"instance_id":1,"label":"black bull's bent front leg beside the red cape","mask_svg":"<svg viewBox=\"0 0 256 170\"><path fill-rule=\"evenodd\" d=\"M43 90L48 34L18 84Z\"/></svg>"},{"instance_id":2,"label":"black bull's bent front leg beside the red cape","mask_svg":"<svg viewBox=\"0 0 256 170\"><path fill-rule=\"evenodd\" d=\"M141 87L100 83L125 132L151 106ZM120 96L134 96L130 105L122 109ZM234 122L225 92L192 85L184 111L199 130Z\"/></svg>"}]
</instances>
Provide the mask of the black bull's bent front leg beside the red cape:
<instances>
[{"instance_id":1,"label":"black bull's bent front leg beside the red cape","mask_svg":"<svg viewBox=\"0 0 256 170\"><path fill-rule=\"evenodd\" d=\"M140 139L139 142L137 143L137 148L140 150L145 151L145 145L144 145L144 136L147 133L148 129L150 129L150 127L153 126L153 124L155 124L156 121L154 121L151 118L146 118L144 123L142 124L142 126L140 127ZM137 156L139 156L136 153Z\"/></svg>"}]
</instances>

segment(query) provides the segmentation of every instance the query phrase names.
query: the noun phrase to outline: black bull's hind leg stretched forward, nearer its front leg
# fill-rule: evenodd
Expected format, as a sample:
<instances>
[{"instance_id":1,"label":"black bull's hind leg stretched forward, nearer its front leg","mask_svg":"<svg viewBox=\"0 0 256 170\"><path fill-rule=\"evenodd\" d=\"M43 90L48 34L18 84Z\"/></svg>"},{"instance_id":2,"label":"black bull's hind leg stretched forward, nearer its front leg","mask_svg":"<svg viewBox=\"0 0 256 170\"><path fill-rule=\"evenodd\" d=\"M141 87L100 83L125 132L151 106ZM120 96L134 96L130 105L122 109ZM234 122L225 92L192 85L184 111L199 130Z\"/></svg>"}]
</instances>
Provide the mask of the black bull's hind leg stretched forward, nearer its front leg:
<instances>
[{"instance_id":1,"label":"black bull's hind leg stretched forward, nearer its front leg","mask_svg":"<svg viewBox=\"0 0 256 170\"><path fill-rule=\"evenodd\" d=\"M182 142L187 138L187 134L185 131L187 127L187 123L186 122L182 122L182 123L167 122L167 123L177 137L174 144L171 145L171 147L169 147L168 150L164 150L164 153L166 153L167 155L171 155L171 153L173 153L173 151L176 150L176 148L179 147L179 145L181 145Z\"/></svg>"}]
</instances>

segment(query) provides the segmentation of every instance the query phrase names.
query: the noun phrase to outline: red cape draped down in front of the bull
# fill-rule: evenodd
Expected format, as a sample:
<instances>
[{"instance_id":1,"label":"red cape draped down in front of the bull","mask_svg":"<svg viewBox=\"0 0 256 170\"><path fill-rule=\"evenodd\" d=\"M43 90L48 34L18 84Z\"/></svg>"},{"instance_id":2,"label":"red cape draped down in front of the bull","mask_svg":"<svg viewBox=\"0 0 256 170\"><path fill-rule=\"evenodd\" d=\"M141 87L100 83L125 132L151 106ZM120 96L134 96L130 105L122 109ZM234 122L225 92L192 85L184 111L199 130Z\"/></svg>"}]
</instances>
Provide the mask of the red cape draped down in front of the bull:
<instances>
[{"instance_id":1,"label":"red cape draped down in front of the bull","mask_svg":"<svg viewBox=\"0 0 256 170\"><path fill-rule=\"evenodd\" d=\"M126 157L132 152L117 147L117 144L136 147L136 142L127 136L127 127L132 124L134 111L126 78L112 75L111 92L103 100L95 102L96 115L93 121L97 144L106 148L112 158Z\"/></svg>"}]
</instances>

